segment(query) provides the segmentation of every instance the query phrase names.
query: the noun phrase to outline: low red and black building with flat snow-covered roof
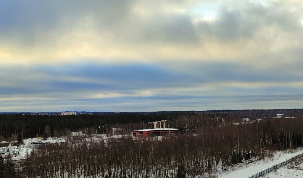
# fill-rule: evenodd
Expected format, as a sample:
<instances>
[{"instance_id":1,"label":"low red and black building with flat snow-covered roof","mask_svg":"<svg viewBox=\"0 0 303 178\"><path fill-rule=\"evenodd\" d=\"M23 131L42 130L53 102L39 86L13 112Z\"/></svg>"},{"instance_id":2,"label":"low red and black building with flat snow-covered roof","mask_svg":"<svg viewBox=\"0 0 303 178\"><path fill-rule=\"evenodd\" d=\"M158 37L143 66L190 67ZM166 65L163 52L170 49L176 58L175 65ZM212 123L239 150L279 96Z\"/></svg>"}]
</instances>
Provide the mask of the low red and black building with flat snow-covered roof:
<instances>
[{"instance_id":1,"label":"low red and black building with flat snow-covered roof","mask_svg":"<svg viewBox=\"0 0 303 178\"><path fill-rule=\"evenodd\" d=\"M184 129L182 128L152 128L152 129L142 129L133 130L133 137L155 137L155 136L171 136L171 135L181 135L184 134Z\"/></svg>"}]
</instances>

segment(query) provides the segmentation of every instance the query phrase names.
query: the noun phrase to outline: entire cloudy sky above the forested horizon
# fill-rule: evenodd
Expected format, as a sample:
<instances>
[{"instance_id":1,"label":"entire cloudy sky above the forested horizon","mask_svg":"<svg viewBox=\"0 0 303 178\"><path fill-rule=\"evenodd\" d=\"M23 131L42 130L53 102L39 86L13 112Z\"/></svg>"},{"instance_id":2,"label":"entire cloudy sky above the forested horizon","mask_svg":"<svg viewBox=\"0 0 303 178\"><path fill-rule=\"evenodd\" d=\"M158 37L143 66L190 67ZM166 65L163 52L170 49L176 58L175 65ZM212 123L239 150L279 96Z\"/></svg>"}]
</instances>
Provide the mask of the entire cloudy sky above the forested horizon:
<instances>
[{"instance_id":1,"label":"entire cloudy sky above the forested horizon","mask_svg":"<svg viewBox=\"0 0 303 178\"><path fill-rule=\"evenodd\" d=\"M0 1L0 112L303 108L303 1Z\"/></svg>"}]
</instances>

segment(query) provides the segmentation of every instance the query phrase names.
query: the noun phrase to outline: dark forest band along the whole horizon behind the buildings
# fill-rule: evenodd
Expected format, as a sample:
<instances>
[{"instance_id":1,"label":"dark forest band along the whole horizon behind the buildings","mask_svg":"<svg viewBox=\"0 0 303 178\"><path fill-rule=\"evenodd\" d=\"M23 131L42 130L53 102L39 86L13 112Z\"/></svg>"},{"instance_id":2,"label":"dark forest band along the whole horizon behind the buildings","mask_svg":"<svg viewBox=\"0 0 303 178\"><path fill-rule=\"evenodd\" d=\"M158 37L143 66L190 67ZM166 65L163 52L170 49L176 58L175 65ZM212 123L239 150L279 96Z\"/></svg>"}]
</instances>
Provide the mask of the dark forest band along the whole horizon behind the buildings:
<instances>
[{"instance_id":1,"label":"dark forest band along the whole horizon behind the buildings","mask_svg":"<svg viewBox=\"0 0 303 178\"><path fill-rule=\"evenodd\" d=\"M1 114L0 140L15 140L18 134L22 138L42 137L45 127L50 132L56 130L59 135L69 134L70 131L82 130L86 134L109 132L111 127L122 127L128 131L145 128L142 122L170 120L170 127L194 129L200 128L199 121L204 118L225 118L225 122L239 122L244 117L251 120L266 116L274 117L284 114L284 117L299 117L302 109L288 110L233 110L233 111L203 111L203 112L151 112L151 113L112 113L112 114L83 114L83 115L29 115L29 114ZM182 122L177 122L183 118ZM194 123L190 118L199 118ZM188 120L189 119L189 120ZM89 128L89 129L88 129Z\"/></svg>"}]
</instances>

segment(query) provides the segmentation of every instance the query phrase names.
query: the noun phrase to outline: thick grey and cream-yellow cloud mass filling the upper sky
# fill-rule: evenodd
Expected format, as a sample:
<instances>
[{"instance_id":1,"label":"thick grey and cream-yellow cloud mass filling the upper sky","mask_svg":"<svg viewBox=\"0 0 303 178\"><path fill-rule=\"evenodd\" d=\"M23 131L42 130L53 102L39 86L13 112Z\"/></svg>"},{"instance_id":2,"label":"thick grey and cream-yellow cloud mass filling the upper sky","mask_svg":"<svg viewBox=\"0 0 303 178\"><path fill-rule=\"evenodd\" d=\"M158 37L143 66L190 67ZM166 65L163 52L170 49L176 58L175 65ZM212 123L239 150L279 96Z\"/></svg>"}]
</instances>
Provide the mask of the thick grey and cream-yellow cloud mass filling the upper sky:
<instances>
[{"instance_id":1,"label":"thick grey and cream-yellow cloud mass filling the upper sky","mask_svg":"<svg viewBox=\"0 0 303 178\"><path fill-rule=\"evenodd\" d=\"M2 2L0 54L3 63L259 58L302 46L300 4ZM208 12L215 14L214 20L203 20Z\"/></svg>"}]
</instances>

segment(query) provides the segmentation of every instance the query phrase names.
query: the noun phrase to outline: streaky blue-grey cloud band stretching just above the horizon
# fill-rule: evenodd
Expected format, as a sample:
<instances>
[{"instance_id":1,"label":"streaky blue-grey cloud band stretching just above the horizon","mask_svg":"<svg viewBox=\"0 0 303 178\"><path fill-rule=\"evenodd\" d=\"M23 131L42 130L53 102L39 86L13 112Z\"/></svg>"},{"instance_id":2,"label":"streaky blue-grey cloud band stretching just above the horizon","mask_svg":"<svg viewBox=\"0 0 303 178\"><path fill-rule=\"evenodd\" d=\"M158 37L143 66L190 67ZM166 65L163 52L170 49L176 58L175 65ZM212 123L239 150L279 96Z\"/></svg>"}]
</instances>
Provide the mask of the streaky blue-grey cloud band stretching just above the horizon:
<instances>
[{"instance_id":1,"label":"streaky blue-grey cloud band stretching just above the horizon","mask_svg":"<svg viewBox=\"0 0 303 178\"><path fill-rule=\"evenodd\" d=\"M53 111L58 106L89 111L98 107L104 111L156 111L179 110L182 105L181 110L225 105L244 108L249 103L274 108L282 101L285 108L298 108L302 101L302 76L298 74L247 69L238 63L188 64L185 68L180 71L147 63L4 66L0 68L6 73L5 86L0 86L1 106L3 111L30 106L31 111L42 111L45 105ZM268 107L268 103L274 104Z\"/></svg>"}]
</instances>

